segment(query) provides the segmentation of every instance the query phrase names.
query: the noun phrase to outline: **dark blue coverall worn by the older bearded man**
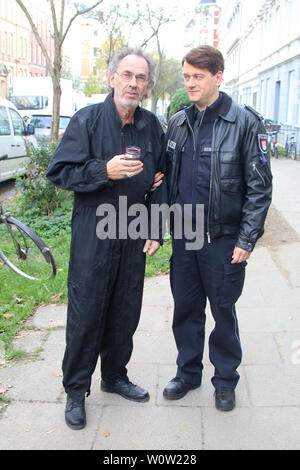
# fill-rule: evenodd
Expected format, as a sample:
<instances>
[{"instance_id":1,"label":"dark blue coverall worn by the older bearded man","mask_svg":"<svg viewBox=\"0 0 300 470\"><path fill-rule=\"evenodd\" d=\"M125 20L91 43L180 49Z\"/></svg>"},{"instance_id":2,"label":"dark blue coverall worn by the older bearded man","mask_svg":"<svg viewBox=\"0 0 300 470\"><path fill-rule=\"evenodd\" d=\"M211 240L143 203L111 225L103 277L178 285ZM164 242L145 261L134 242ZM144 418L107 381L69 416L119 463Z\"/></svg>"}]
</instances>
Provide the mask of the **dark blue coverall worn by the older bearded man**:
<instances>
[{"instance_id":1,"label":"dark blue coverall worn by the older bearded man","mask_svg":"<svg viewBox=\"0 0 300 470\"><path fill-rule=\"evenodd\" d=\"M152 113L138 107L134 123L122 127L109 95L74 115L48 168L56 186L74 191L63 384L76 402L89 394L99 355L104 380L127 377L142 304L145 240L99 239L97 207L111 204L118 222L120 196L127 197L128 208L163 202L160 189L149 192L162 169L162 143L163 131ZM128 145L141 147L142 173L109 180L107 161L124 154Z\"/></svg>"}]
</instances>

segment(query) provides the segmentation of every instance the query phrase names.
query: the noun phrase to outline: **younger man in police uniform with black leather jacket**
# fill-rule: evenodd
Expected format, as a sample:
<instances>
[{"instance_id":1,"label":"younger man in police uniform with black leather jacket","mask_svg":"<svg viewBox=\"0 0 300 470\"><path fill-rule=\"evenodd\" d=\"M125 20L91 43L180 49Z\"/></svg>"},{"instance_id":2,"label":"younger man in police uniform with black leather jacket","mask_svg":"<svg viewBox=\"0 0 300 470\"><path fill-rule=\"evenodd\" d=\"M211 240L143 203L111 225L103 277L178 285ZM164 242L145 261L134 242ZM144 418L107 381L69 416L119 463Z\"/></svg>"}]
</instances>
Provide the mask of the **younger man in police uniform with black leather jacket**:
<instances>
[{"instance_id":1,"label":"younger man in police uniform with black leather jacket","mask_svg":"<svg viewBox=\"0 0 300 470\"><path fill-rule=\"evenodd\" d=\"M267 136L261 116L219 91L222 54L210 46L190 51L182 61L192 106L170 121L166 136L169 204L204 207L204 245L188 250L173 237L171 288L177 373L164 397L178 399L200 386L205 307L215 327L209 338L216 407L235 406L237 367L242 358L235 303L245 267L264 231L272 193Z\"/></svg>"}]
</instances>

